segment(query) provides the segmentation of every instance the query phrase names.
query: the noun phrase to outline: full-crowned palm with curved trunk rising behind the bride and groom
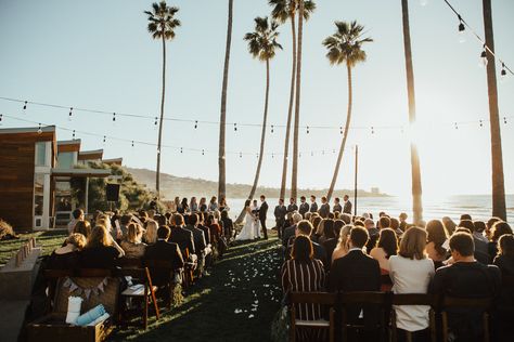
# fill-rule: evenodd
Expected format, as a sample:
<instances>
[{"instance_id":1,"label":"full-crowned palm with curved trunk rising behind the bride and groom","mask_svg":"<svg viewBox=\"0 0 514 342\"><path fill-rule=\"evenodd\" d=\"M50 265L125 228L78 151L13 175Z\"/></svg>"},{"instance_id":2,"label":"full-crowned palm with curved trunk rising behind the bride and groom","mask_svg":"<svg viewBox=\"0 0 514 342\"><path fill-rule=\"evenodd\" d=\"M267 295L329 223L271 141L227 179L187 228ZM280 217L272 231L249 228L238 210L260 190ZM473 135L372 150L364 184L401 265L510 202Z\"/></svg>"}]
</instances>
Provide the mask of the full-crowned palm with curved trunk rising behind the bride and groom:
<instances>
[{"instance_id":1,"label":"full-crowned palm with curved trunk rising behind the bride and groom","mask_svg":"<svg viewBox=\"0 0 514 342\"><path fill-rule=\"evenodd\" d=\"M268 100L269 100L269 90L270 90L270 60L275 55L277 49L282 49L282 45L279 44L277 38L279 32L277 28L279 24L274 21L271 23L268 21L268 17L256 17L255 18L255 31L246 34L244 40L248 42L248 52L254 58L258 58L260 62L266 63L266 92L265 92L265 113L262 115L262 130L260 133L260 149L257 161L257 170L255 171L254 184L248 195L248 199L253 199L255 192L257 189L257 184L259 183L260 167L262 166L262 157L265 155L265 140L266 140L266 129L268 121ZM243 219L244 210L237 218L236 222L241 222Z\"/></svg>"}]
</instances>

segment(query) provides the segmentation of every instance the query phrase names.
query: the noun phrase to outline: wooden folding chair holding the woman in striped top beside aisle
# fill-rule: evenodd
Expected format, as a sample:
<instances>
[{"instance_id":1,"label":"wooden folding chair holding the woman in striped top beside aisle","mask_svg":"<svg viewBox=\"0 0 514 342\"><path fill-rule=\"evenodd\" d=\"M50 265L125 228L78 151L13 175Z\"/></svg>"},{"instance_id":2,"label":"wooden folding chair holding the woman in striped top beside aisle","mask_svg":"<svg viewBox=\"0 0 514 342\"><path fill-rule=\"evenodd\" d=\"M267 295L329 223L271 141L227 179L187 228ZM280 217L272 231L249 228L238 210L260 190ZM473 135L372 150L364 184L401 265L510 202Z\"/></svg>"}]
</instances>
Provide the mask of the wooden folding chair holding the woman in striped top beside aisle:
<instances>
[{"instance_id":1,"label":"wooden folding chair holding the woman in striped top beside aisle","mask_svg":"<svg viewBox=\"0 0 514 342\"><path fill-rule=\"evenodd\" d=\"M334 341L334 307L337 301L336 293L325 292L292 292L290 293L291 301L291 341L296 341L296 328L314 328L314 329L326 329L329 330L330 342ZM295 304L319 304L330 307L329 320L317 319L317 320L300 320L296 318Z\"/></svg>"}]
</instances>

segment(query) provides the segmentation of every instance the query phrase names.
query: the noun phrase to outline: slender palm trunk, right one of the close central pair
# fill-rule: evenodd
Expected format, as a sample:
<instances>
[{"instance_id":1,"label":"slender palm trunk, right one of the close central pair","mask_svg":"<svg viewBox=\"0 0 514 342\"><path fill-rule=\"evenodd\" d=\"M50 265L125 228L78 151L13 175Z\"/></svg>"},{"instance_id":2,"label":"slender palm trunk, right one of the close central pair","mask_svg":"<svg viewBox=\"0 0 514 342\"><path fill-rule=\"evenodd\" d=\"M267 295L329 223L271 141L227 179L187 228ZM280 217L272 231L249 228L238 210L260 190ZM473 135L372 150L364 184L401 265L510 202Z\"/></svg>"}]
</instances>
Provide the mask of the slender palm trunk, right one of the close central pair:
<instances>
[{"instance_id":1,"label":"slender palm trunk, right one of the close central pair","mask_svg":"<svg viewBox=\"0 0 514 342\"><path fill-rule=\"evenodd\" d=\"M295 130L293 134L293 174L291 180L291 197L296 199L298 192L298 130L301 92L301 40L304 37L304 0L299 0L298 8L298 52L296 61L296 101L295 101Z\"/></svg>"}]
</instances>

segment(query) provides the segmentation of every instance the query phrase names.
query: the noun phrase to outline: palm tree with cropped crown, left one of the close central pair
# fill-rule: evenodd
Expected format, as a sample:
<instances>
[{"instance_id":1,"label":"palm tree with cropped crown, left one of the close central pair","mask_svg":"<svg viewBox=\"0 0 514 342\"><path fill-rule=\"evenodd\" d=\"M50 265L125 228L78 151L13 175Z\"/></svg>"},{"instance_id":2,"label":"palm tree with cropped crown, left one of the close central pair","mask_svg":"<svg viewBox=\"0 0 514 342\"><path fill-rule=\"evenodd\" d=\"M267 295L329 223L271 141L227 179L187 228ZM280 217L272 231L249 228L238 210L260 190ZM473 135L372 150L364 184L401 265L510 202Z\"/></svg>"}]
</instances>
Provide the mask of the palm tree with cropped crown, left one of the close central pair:
<instances>
[{"instance_id":1,"label":"palm tree with cropped crown, left one of the close central pair","mask_svg":"<svg viewBox=\"0 0 514 342\"><path fill-rule=\"evenodd\" d=\"M298 10L298 2L296 0L269 0L269 4L273 6L271 16L280 24L291 21L291 31L293 38L293 68L291 71L291 91L290 91L290 107L287 109L287 126L285 129L284 142L284 159L282 166L282 183L280 186L280 198L285 197L285 184L287 181L287 159L290 153L290 135L291 121L293 118L293 105L295 98L295 79L296 79L296 11ZM316 10L313 1L304 1L304 18L309 19L311 13Z\"/></svg>"}]
</instances>

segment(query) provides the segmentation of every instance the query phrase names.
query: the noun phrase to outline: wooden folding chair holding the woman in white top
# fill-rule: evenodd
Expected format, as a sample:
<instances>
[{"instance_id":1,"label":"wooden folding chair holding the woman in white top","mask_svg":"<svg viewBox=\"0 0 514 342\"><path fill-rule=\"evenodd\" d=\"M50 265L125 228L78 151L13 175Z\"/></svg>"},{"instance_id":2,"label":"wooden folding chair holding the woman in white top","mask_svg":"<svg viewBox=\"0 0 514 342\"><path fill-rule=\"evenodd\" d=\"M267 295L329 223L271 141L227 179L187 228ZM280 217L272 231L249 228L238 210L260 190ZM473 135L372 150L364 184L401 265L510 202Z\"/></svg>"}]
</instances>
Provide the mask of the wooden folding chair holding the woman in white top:
<instances>
[{"instance_id":1,"label":"wooden folding chair holding the woman in white top","mask_svg":"<svg viewBox=\"0 0 514 342\"><path fill-rule=\"evenodd\" d=\"M431 306L429 310L429 329L431 329L431 341L436 342L436 317L434 312L434 306L436 304L436 299L433 294L426 293L400 293L400 294L391 294L391 304L395 306L402 306L402 305L427 305ZM398 341L398 332L396 327L396 311L393 308L390 311L390 328L391 328L391 341ZM410 331L407 332L407 341L412 341L412 333Z\"/></svg>"}]
</instances>

